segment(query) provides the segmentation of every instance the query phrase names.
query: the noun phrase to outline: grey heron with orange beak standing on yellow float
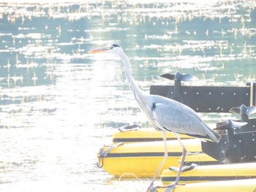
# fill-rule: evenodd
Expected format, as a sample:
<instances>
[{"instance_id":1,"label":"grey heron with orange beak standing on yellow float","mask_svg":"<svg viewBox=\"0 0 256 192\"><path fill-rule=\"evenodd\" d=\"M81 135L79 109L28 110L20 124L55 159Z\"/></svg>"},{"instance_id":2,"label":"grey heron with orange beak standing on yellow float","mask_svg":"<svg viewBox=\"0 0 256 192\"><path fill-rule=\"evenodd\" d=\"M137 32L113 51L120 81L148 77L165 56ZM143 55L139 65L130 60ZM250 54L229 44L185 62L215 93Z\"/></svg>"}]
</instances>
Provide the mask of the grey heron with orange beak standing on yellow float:
<instances>
[{"instance_id":1,"label":"grey heron with orange beak standing on yellow float","mask_svg":"<svg viewBox=\"0 0 256 192\"><path fill-rule=\"evenodd\" d=\"M181 163L178 168L178 174L176 181L168 187L172 188L173 191L178 185L178 180L182 171L182 166L184 165L184 160L187 155L187 150L181 142L181 138L178 134L187 134L193 137L199 137L202 139L208 139L212 142L219 142L220 136L215 131L211 130L206 123L197 115L197 113L191 108L184 104L174 101L173 99L168 99L163 96L150 95L143 93L138 85L135 83L135 79L132 77L131 66L129 64L129 58L124 53L124 51L116 44L107 45L106 47L99 47L94 50L90 50L89 53L114 53L124 64L124 72L126 74L127 80L129 81L129 86L132 94L135 96L135 100L138 101L140 109L143 110L146 117L157 131L162 132L162 138L165 145L164 158L162 159L153 180L151 181L147 191L154 190L154 181L157 179L162 165L165 163L167 158L167 144L166 144L166 134L168 131L176 134L179 144L182 147Z\"/></svg>"}]
</instances>

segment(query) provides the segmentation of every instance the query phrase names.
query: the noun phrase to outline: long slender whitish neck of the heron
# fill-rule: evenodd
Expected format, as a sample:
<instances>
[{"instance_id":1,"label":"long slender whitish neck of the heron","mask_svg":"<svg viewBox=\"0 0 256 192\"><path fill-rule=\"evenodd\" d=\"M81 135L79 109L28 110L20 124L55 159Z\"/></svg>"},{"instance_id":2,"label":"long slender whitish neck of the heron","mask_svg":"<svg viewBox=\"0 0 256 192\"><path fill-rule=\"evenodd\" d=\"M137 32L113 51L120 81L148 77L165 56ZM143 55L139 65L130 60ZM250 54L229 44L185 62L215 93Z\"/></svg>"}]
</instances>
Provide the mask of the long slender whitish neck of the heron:
<instances>
[{"instance_id":1,"label":"long slender whitish neck of the heron","mask_svg":"<svg viewBox=\"0 0 256 192\"><path fill-rule=\"evenodd\" d=\"M131 91L133 95L135 96L136 101L138 101L138 104L140 104L140 107L142 107L142 99L141 96L143 96L143 92L140 90L138 85L135 83L135 79L132 77L131 72L131 66L129 64L129 58L127 58L127 55L124 54L124 52L121 52L119 54L121 61L123 61L124 64L124 71L127 76L127 80L129 81L129 87L131 88Z\"/></svg>"}]
</instances>

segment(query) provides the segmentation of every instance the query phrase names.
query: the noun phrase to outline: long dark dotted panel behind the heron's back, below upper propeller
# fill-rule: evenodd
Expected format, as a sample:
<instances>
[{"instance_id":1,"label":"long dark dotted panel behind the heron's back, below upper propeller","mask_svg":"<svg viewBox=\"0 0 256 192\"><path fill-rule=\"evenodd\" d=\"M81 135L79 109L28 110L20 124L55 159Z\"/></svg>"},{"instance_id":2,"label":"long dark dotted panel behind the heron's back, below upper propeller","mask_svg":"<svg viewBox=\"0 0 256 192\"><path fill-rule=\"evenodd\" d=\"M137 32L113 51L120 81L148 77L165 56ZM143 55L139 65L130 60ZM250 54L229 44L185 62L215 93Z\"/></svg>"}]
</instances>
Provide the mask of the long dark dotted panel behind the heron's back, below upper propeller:
<instances>
[{"instance_id":1,"label":"long dark dotted panel behind the heron's back, below upper propeller","mask_svg":"<svg viewBox=\"0 0 256 192\"><path fill-rule=\"evenodd\" d=\"M150 93L188 105L196 112L229 112L230 108L255 106L255 82L244 87L151 85Z\"/></svg>"}]
</instances>

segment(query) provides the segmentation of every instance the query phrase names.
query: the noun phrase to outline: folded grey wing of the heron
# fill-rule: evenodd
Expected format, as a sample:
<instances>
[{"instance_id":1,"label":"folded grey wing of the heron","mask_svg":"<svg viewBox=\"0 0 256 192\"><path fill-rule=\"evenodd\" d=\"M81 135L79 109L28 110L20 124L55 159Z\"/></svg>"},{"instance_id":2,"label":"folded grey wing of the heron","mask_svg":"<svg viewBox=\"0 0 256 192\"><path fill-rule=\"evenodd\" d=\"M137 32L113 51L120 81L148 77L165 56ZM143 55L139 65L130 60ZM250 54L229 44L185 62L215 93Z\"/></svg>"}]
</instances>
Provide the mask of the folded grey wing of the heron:
<instances>
[{"instance_id":1,"label":"folded grey wing of the heron","mask_svg":"<svg viewBox=\"0 0 256 192\"><path fill-rule=\"evenodd\" d=\"M208 126L203 123L195 111L177 101L162 99L154 103L152 116L159 126L167 131L207 137Z\"/></svg>"}]
</instances>

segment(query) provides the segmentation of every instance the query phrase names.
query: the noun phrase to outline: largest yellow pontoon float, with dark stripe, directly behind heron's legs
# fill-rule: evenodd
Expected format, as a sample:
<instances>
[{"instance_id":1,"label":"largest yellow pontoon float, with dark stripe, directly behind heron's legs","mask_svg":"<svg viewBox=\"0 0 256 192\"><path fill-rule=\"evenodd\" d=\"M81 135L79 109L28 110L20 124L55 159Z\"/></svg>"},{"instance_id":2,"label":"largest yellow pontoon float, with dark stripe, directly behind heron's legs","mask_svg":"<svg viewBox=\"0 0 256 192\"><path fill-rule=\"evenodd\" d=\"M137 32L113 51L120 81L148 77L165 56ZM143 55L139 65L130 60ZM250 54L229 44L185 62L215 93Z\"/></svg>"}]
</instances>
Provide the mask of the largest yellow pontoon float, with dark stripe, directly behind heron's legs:
<instances>
[{"instance_id":1,"label":"largest yellow pontoon float, with dark stripe, directly behind heron's legs","mask_svg":"<svg viewBox=\"0 0 256 192\"><path fill-rule=\"evenodd\" d=\"M199 139L184 139L188 153L200 153ZM162 170L169 166L178 166L181 158L181 146L177 140L167 141L168 158ZM102 147L99 151L98 166L115 176L135 174L137 177L152 177L158 169L164 155L163 142L118 143ZM206 154L188 155L187 161L195 164L214 164L217 161ZM129 174L127 174L129 176Z\"/></svg>"}]
</instances>

